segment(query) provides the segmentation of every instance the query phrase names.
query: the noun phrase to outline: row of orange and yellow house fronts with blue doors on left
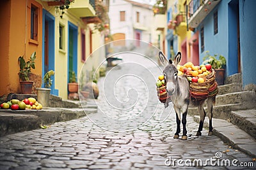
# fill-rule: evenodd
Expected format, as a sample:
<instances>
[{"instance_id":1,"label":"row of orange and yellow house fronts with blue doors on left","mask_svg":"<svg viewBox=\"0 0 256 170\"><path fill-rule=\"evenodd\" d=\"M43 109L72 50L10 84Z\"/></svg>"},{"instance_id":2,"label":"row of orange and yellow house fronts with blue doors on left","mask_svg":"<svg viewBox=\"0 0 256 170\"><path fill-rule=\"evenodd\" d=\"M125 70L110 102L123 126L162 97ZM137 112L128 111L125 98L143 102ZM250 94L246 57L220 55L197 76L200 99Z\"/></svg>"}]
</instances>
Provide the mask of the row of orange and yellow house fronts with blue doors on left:
<instances>
[{"instance_id":1,"label":"row of orange and yellow house fronts with blue doors on left","mask_svg":"<svg viewBox=\"0 0 256 170\"><path fill-rule=\"evenodd\" d=\"M95 1L9 0L0 7L1 82L0 97L20 93L18 58L28 60L36 52L36 68L31 72L35 86L54 70L51 94L67 99L70 71L79 77L81 67L97 67L99 57L88 59L90 53L103 45L104 37L95 29ZM60 10L63 7L63 10ZM68 9L67 9L68 8ZM96 19L95 19L96 18ZM92 58L92 57L91 57ZM85 62L86 61L86 62Z\"/></svg>"}]
</instances>

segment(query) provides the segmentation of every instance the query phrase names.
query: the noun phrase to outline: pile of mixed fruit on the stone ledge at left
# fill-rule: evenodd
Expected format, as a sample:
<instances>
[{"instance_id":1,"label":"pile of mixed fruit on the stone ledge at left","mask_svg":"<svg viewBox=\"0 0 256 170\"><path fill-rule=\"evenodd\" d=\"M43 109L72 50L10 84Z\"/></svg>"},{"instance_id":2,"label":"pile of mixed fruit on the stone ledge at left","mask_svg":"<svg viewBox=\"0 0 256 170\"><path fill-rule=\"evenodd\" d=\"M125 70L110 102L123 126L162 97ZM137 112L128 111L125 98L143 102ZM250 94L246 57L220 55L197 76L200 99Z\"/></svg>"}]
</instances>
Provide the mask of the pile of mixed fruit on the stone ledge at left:
<instances>
[{"instance_id":1,"label":"pile of mixed fruit on the stone ledge at left","mask_svg":"<svg viewBox=\"0 0 256 170\"><path fill-rule=\"evenodd\" d=\"M12 99L6 103L0 104L0 107L3 109L12 109L12 110L42 110L42 104L38 103L35 98L29 97L19 101L18 99Z\"/></svg>"}]
</instances>

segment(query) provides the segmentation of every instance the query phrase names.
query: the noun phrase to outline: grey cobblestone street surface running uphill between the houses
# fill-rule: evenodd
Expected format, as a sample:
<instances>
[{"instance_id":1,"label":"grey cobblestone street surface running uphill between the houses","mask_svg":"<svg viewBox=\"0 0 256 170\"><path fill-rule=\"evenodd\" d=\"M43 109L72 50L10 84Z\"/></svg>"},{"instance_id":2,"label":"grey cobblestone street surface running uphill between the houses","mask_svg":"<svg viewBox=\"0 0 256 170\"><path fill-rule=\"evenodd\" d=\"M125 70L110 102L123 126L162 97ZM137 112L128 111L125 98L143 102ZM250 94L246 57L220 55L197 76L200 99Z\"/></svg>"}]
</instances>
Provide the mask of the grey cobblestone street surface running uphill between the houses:
<instances>
[{"instance_id":1,"label":"grey cobblestone street surface running uphill between the houses","mask_svg":"<svg viewBox=\"0 0 256 170\"><path fill-rule=\"evenodd\" d=\"M121 66L113 72L126 73L132 68ZM154 67L150 69L156 78L159 72ZM143 70L139 72L138 75L145 74ZM146 79L143 81L147 82ZM207 136L205 129L202 136L197 138L198 124L193 122L192 117L188 117L188 140L173 139L175 113L171 106L165 111L170 114L163 111L163 104L157 101L154 83L152 86L145 83L148 89L154 89L154 92L148 90L153 95L147 97L147 88L140 85L141 81L136 82L132 76L128 76L122 83L115 83L116 99L109 103L112 98L106 99L108 97L104 97L104 94L109 96L111 87L107 83L108 90L104 92L104 81L107 80L101 78L99 81L102 88L96 101L98 113L58 122L47 129L0 138L0 169L248 169L225 166L228 162L232 165L235 159L238 162L234 163L238 166L241 162L252 162L252 158L228 147L216 136ZM136 93L131 91L127 94L133 85L139 87ZM130 101L127 95L130 99L137 96L138 100ZM118 102L118 106L115 106ZM127 108L129 102L136 104ZM211 164L210 161L206 162L207 159L216 161L212 160ZM193 165L193 161L200 160L202 166L187 166L189 162ZM255 168L255 162L253 166Z\"/></svg>"}]
</instances>

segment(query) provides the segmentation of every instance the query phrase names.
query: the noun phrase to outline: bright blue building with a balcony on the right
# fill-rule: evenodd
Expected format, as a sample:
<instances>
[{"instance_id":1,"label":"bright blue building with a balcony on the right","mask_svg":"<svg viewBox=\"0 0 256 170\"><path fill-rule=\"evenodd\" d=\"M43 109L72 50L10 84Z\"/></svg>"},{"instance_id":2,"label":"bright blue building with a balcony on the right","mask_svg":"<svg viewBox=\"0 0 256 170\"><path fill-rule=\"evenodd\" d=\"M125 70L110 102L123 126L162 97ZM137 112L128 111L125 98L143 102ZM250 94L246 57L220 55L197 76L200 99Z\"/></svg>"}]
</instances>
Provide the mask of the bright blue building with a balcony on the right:
<instances>
[{"instance_id":1,"label":"bright blue building with a balcony on the right","mask_svg":"<svg viewBox=\"0 0 256 170\"><path fill-rule=\"evenodd\" d=\"M188 25L198 33L200 63L205 51L223 55L226 75L241 73L243 87L256 84L255 7L255 0L191 0L188 4Z\"/></svg>"}]
</instances>

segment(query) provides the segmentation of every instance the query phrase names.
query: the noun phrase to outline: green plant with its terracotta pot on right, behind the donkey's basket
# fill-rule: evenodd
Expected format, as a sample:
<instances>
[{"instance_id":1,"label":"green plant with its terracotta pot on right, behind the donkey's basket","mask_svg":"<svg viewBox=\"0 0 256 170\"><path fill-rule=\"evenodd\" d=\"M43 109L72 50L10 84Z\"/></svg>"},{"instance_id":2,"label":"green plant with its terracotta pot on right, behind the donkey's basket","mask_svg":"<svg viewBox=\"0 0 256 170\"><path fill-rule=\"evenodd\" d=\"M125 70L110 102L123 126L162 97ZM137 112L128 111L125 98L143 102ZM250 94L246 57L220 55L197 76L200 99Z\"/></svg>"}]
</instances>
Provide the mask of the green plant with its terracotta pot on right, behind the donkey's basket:
<instances>
[{"instance_id":1,"label":"green plant with its terracotta pot on right, behind the donkey's basket","mask_svg":"<svg viewBox=\"0 0 256 170\"><path fill-rule=\"evenodd\" d=\"M209 51L206 51L206 55L203 58L203 64L211 64L212 69L215 71L215 80L218 85L223 85L225 80L225 67L226 67L226 59L223 55L214 54L213 56L209 54Z\"/></svg>"}]
</instances>

